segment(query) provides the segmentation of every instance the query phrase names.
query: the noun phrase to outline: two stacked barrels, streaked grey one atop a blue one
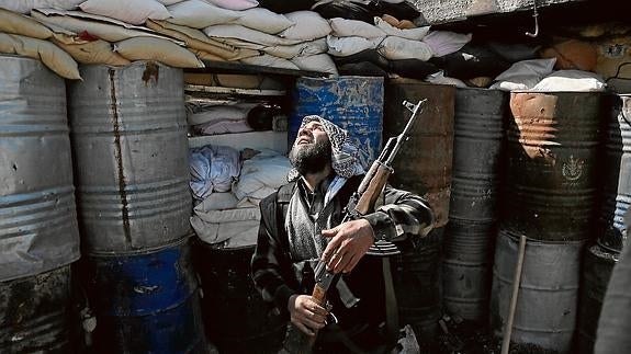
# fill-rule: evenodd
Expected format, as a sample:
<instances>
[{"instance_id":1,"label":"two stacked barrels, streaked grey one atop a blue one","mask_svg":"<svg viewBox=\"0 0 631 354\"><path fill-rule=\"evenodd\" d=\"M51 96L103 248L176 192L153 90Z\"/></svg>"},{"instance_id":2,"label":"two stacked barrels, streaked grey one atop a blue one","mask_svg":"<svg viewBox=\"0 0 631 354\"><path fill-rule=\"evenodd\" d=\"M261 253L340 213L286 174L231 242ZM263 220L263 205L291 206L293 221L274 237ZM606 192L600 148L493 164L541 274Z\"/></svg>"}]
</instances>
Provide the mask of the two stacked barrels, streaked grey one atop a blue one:
<instances>
[{"instance_id":1,"label":"two stacked barrels, streaked grey one atop a blue one","mask_svg":"<svg viewBox=\"0 0 631 354\"><path fill-rule=\"evenodd\" d=\"M83 66L68 89L93 351L206 353L192 267L183 72Z\"/></svg>"}]
</instances>

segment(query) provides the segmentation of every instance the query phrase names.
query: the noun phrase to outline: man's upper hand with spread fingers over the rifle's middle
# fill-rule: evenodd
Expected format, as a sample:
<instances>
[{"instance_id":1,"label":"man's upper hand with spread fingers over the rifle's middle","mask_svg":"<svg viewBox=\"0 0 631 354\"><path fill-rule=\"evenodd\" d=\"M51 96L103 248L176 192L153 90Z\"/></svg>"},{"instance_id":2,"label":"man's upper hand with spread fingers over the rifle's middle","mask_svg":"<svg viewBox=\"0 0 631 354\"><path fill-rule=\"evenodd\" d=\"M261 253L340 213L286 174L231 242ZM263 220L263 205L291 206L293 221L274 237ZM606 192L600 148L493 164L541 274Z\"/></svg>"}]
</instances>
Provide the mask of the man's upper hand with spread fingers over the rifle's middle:
<instances>
[{"instance_id":1,"label":"man's upper hand with spread fingers over the rifle's middle","mask_svg":"<svg viewBox=\"0 0 631 354\"><path fill-rule=\"evenodd\" d=\"M331 240L323 252L322 260L334 273L348 273L374 242L374 232L365 219L357 219L323 230Z\"/></svg>"}]
</instances>

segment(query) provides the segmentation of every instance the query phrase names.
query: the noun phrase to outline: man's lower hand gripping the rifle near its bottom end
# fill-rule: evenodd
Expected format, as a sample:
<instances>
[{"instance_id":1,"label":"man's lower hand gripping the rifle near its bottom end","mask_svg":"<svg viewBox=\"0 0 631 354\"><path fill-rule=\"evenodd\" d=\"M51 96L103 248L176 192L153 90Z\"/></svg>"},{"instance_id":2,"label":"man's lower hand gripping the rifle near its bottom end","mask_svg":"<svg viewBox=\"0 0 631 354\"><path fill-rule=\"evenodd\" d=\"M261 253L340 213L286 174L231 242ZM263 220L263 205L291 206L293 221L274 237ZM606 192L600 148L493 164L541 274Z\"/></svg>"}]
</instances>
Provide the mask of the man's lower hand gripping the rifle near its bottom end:
<instances>
[{"instance_id":1,"label":"man's lower hand gripping the rifle near its bottom end","mask_svg":"<svg viewBox=\"0 0 631 354\"><path fill-rule=\"evenodd\" d=\"M325 326L327 310L317 305L309 295L292 295L288 302L292 323L307 335Z\"/></svg>"}]
</instances>

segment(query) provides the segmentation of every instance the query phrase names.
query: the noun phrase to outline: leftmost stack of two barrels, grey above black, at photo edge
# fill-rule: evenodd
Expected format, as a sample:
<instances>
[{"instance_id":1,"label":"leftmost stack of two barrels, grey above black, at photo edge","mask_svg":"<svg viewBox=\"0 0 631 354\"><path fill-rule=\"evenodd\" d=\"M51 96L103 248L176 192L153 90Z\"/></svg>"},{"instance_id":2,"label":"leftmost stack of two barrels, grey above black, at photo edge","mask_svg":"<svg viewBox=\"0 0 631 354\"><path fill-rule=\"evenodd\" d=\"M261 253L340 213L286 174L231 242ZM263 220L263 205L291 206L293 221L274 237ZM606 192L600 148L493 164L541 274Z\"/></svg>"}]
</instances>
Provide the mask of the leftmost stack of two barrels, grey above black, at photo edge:
<instances>
[{"instance_id":1,"label":"leftmost stack of two barrels, grey above black, at photo edge","mask_svg":"<svg viewBox=\"0 0 631 354\"><path fill-rule=\"evenodd\" d=\"M0 352L81 349L66 84L40 60L0 56Z\"/></svg>"}]
</instances>

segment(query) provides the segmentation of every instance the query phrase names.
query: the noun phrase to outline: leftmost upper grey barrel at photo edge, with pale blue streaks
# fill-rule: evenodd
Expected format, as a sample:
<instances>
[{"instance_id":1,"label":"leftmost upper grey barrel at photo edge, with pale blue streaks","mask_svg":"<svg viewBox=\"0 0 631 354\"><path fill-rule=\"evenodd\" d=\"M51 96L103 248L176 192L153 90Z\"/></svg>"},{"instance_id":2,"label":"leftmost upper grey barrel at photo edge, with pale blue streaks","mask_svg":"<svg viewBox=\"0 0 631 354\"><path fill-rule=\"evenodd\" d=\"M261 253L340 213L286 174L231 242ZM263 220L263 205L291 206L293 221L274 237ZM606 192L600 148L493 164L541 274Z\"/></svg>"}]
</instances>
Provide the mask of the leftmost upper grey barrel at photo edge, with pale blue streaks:
<instances>
[{"instance_id":1,"label":"leftmost upper grey barrel at photo edge, with pale blue streaks","mask_svg":"<svg viewBox=\"0 0 631 354\"><path fill-rule=\"evenodd\" d=\"M79 258L64 79L0 56L0 281Z\"/></svg>"}]
</instances>

